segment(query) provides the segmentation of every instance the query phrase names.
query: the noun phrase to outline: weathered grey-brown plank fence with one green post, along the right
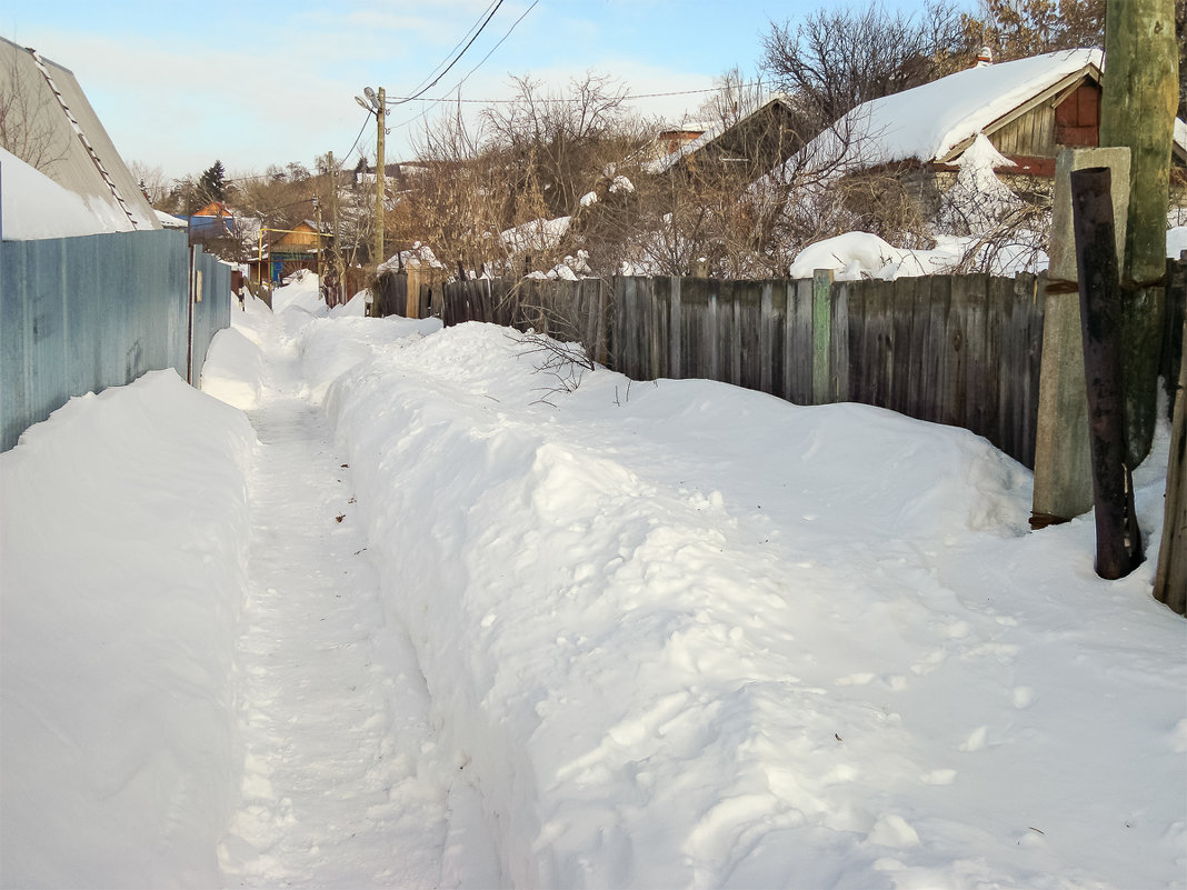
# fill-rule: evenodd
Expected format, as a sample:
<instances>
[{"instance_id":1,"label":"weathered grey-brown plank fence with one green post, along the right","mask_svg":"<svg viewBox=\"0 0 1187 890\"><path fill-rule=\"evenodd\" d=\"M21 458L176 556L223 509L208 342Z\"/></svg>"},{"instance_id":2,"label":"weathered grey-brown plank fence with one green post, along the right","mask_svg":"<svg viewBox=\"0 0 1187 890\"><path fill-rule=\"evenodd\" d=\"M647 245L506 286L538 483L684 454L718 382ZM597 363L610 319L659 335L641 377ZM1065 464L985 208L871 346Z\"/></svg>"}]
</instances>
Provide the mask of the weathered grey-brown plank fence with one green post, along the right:
<instances>
[{"instance_id":1,"label":"weathered grey-brown plank fence with one green post, along the right","mask_svg":"<svg viewBox=\"0 0 1187 890\"><path fill-rule=\"evenodd\" d=\"M704 377L798 405L853 401L961 426L1034 466L1045 275L894 281L458 281L430 311L577 341L635 380ZM1179 376L1187 265L1168 263L1160 374Z\"/></svg>"}]
</instances>

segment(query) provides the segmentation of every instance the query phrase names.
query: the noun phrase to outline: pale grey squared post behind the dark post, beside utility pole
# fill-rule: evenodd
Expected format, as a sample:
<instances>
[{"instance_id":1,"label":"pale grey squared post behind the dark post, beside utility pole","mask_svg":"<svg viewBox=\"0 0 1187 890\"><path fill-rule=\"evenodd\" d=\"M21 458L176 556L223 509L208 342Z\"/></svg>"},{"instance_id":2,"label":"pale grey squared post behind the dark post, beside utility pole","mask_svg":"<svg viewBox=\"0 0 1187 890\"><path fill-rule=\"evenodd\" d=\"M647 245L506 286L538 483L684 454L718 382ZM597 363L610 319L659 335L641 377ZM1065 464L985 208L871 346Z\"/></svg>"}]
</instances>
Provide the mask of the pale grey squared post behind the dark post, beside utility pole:
<instances>
[{"instance_id":1,"label":"pale grey squared post behind the dark post, beside utility pole","mask_svg":"<svg viewBox=\"0 0 1187 890\"><path fill-rule=\"evenodd\" d=\"M1115 246L1119 265L1129 205L1129 150L1064 148L1055 160L1030 517L1036 529L1066 522L1092 509L1088 402L1084 383L1071 174L1074 170L1100 166L1112 170Z\"/></svg>"}]
</instances>

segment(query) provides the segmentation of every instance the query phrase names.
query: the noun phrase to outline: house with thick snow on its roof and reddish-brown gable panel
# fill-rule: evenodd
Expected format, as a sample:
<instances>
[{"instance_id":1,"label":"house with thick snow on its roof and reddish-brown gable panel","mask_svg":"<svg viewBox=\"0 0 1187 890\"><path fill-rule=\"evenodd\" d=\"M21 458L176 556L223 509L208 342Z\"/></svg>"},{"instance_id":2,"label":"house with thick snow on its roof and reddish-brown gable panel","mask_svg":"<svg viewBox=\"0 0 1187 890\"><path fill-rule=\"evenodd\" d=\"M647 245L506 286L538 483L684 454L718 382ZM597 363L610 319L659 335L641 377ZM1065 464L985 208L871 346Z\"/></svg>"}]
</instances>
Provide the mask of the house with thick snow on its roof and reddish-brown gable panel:
<instances>
[{"instance_id":1,"label":"house with thick snow on its roof and reddish-brown gable panel","mask_svg":"<svg viewBox=\"0 0 1187 890\"><path fill-rule=\"evenodd\" d=\"M995 172L1015 191L1045 191L1065 147L1100 144L1100 50L1062 50L976 66L865 102L810 142L804 157L843 172L915 171L933 199L954 180L978 140L995 152ZM982 157L989 155L984 147ZM792 161L796 163L796 161ZM1187 127L1175 125L1175 191L1181 199ZM945 176L946 174L946 176ZM1021 178L1021 179L1020 179ZM934 187L929 187L934 186Z\"/></svg>"}]
</instances>

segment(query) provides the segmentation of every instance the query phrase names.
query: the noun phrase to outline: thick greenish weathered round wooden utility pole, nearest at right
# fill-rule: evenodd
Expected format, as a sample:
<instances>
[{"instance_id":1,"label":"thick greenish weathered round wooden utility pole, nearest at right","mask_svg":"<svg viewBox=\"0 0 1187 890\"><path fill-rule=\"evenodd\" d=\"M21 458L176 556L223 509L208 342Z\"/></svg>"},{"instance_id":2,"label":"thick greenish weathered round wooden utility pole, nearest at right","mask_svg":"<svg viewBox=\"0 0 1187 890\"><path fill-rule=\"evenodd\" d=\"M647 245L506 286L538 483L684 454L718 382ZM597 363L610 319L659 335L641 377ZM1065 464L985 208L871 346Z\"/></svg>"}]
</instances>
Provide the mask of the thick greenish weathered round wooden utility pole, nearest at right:
<instances>
[{"instance_id":1,"label":"thick greenish weathered round wooden utility pole, nearest at right","mask_svg":"<svg viewBox=\"0 0 1187 890\"><path fill-rule=\"evenodd\" d=\"M1100 145L1130 150L1121 329L1132 469L1150 453L1157 412L1167 189L1179 101L1174 0L1107 0L1105 66Z\"/></svg>"}]
</instances>

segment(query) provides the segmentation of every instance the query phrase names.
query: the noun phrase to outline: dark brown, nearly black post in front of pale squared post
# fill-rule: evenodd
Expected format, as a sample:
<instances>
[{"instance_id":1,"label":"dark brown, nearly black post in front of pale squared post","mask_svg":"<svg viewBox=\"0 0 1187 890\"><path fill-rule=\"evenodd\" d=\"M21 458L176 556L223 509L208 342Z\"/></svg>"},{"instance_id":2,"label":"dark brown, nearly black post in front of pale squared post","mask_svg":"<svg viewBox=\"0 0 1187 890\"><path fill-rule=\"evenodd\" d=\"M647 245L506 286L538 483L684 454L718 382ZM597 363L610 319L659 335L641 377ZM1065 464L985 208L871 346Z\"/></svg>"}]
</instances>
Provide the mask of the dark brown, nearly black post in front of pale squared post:
<instances>
[{"instance_id":1,"label":"dark brown, nearly black post in front of pale squared post","mask_svg":"<svg viewBox=\"0 0 1187 890\"><path fill-rule=\"evenodd\" d=\"M1122 381L1121 279L1115 250L1111 174L1107 167L1071 176L1075 265L1080 280L1088 441L1097 521L1097 574L1113 580L1142 561L1142 533L1134 511L1134 478L1125 463Z\"/></svg>"}]
</instances>

